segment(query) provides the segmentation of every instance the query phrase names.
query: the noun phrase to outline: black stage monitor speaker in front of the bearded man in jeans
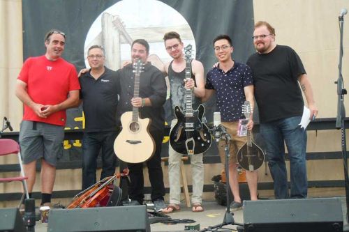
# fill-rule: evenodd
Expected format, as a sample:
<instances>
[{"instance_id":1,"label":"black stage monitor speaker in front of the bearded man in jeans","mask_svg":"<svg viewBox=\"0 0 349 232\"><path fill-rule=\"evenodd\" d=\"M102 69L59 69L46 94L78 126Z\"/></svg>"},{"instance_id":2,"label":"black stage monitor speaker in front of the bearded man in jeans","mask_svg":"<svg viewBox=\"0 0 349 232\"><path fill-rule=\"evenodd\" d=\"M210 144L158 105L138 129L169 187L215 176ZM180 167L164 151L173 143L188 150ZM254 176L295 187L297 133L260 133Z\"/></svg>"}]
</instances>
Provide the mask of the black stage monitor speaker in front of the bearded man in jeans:
<instances>
[{"instance_id":1,"label":"black stage monitor speaker in front of the bearded man in jeans","mask_svg":"<svg viewBox=\"0 0 349 232\"><path fill-rule=\"evenodd\" d=\"M244 201L244 232L343 231L339 198Z\"/></svg>"}]
</instances>

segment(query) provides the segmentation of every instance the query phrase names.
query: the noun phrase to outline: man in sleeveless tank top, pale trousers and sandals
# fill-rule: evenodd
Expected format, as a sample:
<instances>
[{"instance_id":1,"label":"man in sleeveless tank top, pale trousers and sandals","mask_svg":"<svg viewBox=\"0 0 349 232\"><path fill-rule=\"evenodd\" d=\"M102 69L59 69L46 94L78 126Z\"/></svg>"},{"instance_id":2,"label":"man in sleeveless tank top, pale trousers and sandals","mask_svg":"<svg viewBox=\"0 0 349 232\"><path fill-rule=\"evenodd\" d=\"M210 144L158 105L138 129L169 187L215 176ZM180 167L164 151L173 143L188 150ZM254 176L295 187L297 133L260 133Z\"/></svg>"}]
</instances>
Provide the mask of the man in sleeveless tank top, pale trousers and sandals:
<instances>
[{"instance_id":1,"label":"man in sleeveless tank top, pale trousers and sandals","mask_svg":"<svg viewBox=\"0 0 349 232\"><path fill-rule=\"evenodd\" d=\"M168 73L168 79L170 81L170 100L172 110L174 106L179 106L181 109L185 109L185 95L186 88L191 88L194 95L193 109L197 109L200 105L202 98L205 95L205 79L204 68L200 61L191 61L191 79L186 80L186 60L184 58L184 44L181 42L181 38L177 32L171 31L165 33L163 37L165 42L165 48L168 54L173 58L170 63L165 64L165 72ZM177 119L174 119L174 112L172 111L172 123L173 127L177 123ZM169 180L170 180L170 204L162 212L170 213L180 208L180 162L181 154L175 152L171 146L169 146ZM197 155L191 155L191 172L193 178L193 195L191 197L191 203L193 204L193 212L201 212L202 208L202 190L204 186L204 164L202 162L202 153Z\"/></svg>"}]
</instances>

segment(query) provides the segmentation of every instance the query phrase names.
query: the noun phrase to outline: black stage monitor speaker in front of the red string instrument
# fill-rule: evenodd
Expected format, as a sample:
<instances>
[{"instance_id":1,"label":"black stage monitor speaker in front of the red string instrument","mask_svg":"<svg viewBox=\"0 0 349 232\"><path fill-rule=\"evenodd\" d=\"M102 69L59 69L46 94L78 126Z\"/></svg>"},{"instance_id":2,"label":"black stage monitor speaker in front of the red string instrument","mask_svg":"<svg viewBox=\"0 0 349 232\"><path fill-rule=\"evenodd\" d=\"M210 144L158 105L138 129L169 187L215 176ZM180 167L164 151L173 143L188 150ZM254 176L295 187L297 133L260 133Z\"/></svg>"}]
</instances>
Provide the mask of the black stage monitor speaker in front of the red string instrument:
<instances>
[{"instance_id":1,"label":"black stage monitor speaker in front of the red string instrument","mask_svg":"<svg viewBox=\"0 0 349 232\"><path fill-rule=\"evenodd\" d=\"M47 232L146 231L150 232L146 206L53 209Z\"/></svg>"}]
</instances>

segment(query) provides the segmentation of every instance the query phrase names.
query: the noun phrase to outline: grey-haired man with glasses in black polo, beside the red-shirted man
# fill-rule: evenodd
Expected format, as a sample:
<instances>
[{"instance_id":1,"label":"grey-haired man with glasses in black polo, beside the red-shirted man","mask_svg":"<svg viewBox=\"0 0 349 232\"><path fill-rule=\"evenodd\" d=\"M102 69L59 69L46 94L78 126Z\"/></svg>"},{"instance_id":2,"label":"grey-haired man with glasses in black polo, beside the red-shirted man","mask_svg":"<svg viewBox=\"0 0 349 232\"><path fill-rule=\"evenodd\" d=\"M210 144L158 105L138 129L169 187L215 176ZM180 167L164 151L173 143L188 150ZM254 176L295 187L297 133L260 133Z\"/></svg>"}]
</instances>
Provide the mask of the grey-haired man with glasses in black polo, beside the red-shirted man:
<instances>
[{"instance_id":1,"label":"grey-haired man with glasses in black polo, beside the red-shirted man","mask_svg":"<svg viewBox=\"0 0 349 232\"><path fill-rule=\"evenodd\" d=\"M94 45L89 48L87 59L91 69L80 77L85 117L82 140L82 190L96 183L96 161L102 149L103 169L101 180L114 176L117 157L114 140L118 134L116 123L119 78L104 66L105 51Z\"/></svg>"}]
</instances>

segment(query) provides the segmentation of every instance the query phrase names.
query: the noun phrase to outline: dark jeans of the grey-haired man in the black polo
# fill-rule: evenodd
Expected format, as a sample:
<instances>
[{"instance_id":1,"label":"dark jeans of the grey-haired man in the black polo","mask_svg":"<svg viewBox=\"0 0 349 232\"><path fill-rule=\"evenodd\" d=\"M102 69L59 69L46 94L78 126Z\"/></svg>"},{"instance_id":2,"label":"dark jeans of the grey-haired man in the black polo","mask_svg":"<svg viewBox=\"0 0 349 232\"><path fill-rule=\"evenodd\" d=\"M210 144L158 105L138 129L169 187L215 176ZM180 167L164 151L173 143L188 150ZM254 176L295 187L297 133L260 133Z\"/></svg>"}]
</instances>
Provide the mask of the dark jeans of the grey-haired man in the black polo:
<instances>
[{"instance_id":1,"label":"dark jeans of the grey-haired man in the black polo","mask_svg":"<svg viewBox=\"0 0 349 232\"><path fill-rule=\"evenodd\" d=\"M97 157L102 149L101 180L114 176L117 156L114 153L114 140L118 132L85 132L82 139L82 190L96 183Z\"/></svg>"}]
</instances>

